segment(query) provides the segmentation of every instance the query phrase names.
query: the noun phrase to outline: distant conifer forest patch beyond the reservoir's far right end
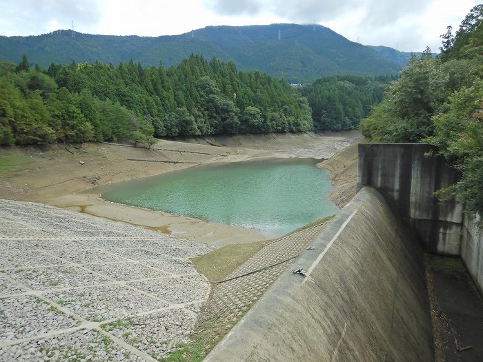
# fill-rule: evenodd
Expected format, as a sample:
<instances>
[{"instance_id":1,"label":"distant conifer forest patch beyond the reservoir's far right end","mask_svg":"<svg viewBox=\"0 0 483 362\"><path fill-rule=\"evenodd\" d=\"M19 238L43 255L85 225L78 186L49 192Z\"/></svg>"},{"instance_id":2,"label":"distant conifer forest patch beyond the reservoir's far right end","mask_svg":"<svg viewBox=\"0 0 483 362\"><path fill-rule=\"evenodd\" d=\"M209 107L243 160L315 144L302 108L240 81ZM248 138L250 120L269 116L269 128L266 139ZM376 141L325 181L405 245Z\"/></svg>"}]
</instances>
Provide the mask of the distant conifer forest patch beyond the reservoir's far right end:
<instances>
[{"instance_id":1,"label":"distant conifer forest patch beyond the reservoir's far right end","mask_svg":"<svg viewBox=\"0 0 483 362\"><path fill-rule=\"evenodd\" d=\"M382 101L385 85L395 79L393 75L324 77L302 87L301 92L311 105L316 130L353 130Z\"/></svg>"}]
</instances>

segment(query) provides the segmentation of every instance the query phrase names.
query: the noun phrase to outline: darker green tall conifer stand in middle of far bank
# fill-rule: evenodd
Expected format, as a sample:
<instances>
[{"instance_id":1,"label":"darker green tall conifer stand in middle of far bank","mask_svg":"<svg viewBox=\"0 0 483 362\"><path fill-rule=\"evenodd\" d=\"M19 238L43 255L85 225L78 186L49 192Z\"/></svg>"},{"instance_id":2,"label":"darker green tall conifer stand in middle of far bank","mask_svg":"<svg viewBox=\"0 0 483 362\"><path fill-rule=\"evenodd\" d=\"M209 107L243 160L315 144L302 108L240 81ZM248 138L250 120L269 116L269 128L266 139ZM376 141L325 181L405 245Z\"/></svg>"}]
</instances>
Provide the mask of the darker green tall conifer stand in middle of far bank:
<instances>
[{"instance_id":1,"label":"darker green tall conifer stand in middle of far bank","mask_svg":"<svg viewBox=\"0 0 483 362\"><path fill-rule=\"evenodd\" d=\"M199 55L167 70L140 63L48 68L59 86L87 89L124 105L155 128L155 137L312 130L310 108L286 81L239 72L232 62Z\"/></svg>"}]
</instances>

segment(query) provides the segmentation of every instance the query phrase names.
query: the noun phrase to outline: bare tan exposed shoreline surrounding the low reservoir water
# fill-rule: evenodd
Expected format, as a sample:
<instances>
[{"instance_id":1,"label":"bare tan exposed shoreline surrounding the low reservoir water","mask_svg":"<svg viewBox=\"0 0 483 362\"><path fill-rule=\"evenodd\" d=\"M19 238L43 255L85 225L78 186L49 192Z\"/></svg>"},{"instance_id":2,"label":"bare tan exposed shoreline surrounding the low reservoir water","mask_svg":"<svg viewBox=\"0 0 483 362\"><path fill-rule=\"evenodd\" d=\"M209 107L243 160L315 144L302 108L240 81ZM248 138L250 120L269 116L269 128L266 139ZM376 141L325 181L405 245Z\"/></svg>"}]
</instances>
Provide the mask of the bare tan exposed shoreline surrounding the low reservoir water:
<instances>
[{"instance_id":1,"label":"bare tan exposed shoreline surrounding the low reservoir water","mask_svg":"<svg viewBox=\"0 0 483 362\"><path fill-rule=\"evenodd\" d=\"M162 151L102 143L86 143L83 148L68 150L63 145L57 145L46 152L36 148L14 148L10 151L30 157L32 163L0 177L0 198L47 203L158 232L193 237L197 241L217 246L273 239L277 235L261 230L112 203L89 190L97 185L109 185L193 166L187 163L128 161L127 158L201 163L288 157L328 159L355 143L358 138L357 132L340 132L327 136L306 133L240 135L191 139L188 142L160 140L154 148L163 148ZM181 152L166 151L168 149ZM331 179L337 188L334 170L324 165L322 167L331 172ZM339 203L335 204L340 207Z\"/></svg>"}]
</instances>

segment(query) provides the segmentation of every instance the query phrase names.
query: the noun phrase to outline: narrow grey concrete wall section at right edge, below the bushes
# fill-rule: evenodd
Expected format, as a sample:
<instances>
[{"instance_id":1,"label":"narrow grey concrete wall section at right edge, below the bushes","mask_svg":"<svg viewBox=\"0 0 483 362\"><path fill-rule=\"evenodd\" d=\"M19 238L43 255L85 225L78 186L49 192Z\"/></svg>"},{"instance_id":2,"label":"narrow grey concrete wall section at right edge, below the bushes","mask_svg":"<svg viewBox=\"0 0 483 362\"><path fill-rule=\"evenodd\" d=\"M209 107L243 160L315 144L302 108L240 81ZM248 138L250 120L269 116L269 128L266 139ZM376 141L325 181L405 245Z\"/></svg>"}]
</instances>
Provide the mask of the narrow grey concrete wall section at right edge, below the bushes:
<instances>
[{"instance_id":1,"label":"narrow grey concrete wall section at right edge, below the bushes","mask_svg":"<svg viewBox=\"0 0 483 362\"><path fill-rule=\"evenodd\" d=\"M480 290L480 294L483 295L483 232L477 228L478 221L480 221L480 216L464 217L461 258Z\"/></svg>"}]
</instances>

